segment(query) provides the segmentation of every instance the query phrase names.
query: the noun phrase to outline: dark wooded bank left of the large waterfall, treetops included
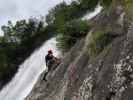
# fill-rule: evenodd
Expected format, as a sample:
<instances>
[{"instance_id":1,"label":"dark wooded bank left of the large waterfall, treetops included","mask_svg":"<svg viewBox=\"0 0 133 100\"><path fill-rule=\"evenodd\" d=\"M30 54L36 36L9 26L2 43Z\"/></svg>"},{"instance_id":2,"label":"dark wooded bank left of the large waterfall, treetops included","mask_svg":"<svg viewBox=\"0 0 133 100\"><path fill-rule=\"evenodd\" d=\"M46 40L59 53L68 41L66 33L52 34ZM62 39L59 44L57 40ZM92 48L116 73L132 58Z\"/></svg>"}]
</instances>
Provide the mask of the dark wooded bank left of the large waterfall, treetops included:
<instances>
[{"instance_id":1,"label":"dark wooded bank left of the large waterfall, treetops included","mask_svg":"<svg viewBox=\"0 0 133 100\"><path fill-rule=\"evenodd\" d=\"M7 82L30 53L51 37L51 26L44 27L42 20L36 18L8 21L2 26L4 36L0 37L0 80Z\"/></svg>"}]
</instances>

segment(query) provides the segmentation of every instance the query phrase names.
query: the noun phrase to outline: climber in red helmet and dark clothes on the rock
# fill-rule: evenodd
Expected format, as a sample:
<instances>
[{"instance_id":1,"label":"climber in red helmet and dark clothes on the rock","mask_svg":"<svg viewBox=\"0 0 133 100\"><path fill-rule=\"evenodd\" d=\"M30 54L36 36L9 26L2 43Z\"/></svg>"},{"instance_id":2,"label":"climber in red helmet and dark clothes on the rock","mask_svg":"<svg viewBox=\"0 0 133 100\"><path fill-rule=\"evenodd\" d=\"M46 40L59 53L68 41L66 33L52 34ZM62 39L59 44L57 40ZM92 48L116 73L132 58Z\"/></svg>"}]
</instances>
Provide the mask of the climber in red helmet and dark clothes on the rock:
<instances>
[{"instance_id":1,"label":"climber in red helmet and dark clothes on the rock","mask_svg":"<svg viewBox=\"0 0 133 100\"><path fill-rule=\"evenodd\" d=\"M44 80L46 80L48 72L51 71L51 69L54 70L60 64L60 60L53 55L53 51L51 49L48 50L48 54L45 56L45 61L48 70L44 75Z\"/></svg>"}]
</instances>

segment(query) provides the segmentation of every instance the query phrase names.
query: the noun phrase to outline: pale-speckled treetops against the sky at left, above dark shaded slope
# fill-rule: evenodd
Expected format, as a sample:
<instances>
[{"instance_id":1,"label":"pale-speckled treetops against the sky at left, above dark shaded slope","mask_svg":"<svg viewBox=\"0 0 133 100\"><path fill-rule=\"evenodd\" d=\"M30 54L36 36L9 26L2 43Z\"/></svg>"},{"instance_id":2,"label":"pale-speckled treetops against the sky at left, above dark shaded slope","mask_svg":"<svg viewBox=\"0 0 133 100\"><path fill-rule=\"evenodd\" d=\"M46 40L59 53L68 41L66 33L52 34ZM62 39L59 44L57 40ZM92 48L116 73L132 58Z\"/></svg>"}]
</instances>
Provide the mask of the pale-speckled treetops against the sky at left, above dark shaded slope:
<instances>
[{"instance_id":1,"label":"pale-speckled treetops against the sky at left, above dark shaded slope","mask_svg":"<svg viewBox=\"0 0 133 100\"><path fill-rule=\"evenodd\" d=\"M17 21L15 25L8 21L7 26L2 26L5 42L22 43L29 38L34 37L43 29L43 22L35 18Z\"/></svg>"}]
</instances>

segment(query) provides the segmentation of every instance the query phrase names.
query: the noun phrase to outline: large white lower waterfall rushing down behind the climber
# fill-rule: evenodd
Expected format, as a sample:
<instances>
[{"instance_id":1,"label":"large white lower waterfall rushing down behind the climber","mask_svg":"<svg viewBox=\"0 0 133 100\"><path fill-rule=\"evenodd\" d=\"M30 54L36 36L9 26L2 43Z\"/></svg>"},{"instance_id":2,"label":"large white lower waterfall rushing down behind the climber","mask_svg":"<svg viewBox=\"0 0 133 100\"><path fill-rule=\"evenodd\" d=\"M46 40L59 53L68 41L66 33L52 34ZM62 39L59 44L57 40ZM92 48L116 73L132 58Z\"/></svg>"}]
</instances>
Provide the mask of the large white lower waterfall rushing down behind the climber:
<instances>
[{"instance_id":1,"label":"large white lower waterfall rushing down behind the climber","mask_svg":"<svg viewBox=\"0 0 133 100\"><path fill-rule=\"evenodd\" d=\"M0 92L0 100L24 100L36 84L39 76L45 70L45 55L47 50L53 49L54 55L58 55L56 39L46 41L23 64L15 77Z\"/></svg>"}]
</instances>

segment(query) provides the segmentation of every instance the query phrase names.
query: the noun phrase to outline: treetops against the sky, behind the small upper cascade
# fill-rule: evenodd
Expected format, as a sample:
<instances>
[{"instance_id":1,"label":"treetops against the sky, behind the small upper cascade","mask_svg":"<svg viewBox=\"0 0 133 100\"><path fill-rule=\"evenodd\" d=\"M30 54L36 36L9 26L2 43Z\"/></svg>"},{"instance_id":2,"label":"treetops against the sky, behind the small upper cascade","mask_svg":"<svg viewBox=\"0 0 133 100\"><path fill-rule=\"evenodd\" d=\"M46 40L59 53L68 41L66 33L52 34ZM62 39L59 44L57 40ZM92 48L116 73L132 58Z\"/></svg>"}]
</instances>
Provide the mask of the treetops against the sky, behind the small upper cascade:
<instances>
[{"instance_id":1,"label":"treetops against the sky, behind the small upper cascade","mask_svg":"<svg viewBox=\"0 0 133 100\"><path fill-rule=\"evenodd\" d=\"M65 2L62 2L56 5L54 8L49 10L48 15L46 16L46 22L48 24L64 24L66 21L73 20L75 18L80 18L87 11L93 10L98 4L99 0L79 0L72 1L70 5L67 5Z\"/></svg>"}]
</instances>

